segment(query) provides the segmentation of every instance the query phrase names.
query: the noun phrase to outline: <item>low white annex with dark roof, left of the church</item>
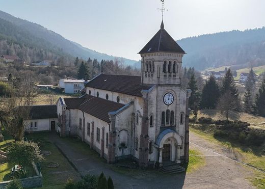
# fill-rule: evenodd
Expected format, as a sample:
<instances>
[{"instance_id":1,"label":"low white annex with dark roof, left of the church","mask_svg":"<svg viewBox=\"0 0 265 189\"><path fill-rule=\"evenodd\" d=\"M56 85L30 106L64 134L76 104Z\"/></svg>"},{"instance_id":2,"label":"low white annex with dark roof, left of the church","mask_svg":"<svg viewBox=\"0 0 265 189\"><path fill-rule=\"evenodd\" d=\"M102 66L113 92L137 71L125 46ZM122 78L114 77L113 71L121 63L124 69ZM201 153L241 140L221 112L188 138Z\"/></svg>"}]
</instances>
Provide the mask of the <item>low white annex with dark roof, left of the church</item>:
<instances>
[{"instance_id":1,"label":"low white annex with dark roof, left of the church","mask_svg":"<svg viewBox=\"0 0 265 189\"><path fill-rule=\"evenodd\" d=\"M26 132L55 130L57 125L56 105L33 105L29 107L29 120L26 120Z\"/></svg>"}]
</instances>

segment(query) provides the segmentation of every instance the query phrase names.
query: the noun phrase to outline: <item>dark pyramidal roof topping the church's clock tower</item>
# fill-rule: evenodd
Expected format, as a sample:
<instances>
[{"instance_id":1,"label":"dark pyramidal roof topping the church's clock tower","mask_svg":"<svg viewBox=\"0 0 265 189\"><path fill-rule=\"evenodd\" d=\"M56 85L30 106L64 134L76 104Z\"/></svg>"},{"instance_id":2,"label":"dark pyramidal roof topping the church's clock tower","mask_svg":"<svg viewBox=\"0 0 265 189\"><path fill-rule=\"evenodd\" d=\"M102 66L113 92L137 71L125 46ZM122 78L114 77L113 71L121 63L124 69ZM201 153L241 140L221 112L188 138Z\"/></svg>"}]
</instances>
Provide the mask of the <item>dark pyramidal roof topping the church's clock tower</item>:
<instances>
[{"instance_id":1,"label":"dark pyramidal roof topping the church's clock tower","mask_svg":"<svg viewBox=\"0 0 265 189\"><path fill-rule=\"evenodd\" d=\"M163 20L160 26L160 30L144 46L144 48L139 52L139 54L160 51L186 53L164 29Z\"/></svg>"}]
</instances>

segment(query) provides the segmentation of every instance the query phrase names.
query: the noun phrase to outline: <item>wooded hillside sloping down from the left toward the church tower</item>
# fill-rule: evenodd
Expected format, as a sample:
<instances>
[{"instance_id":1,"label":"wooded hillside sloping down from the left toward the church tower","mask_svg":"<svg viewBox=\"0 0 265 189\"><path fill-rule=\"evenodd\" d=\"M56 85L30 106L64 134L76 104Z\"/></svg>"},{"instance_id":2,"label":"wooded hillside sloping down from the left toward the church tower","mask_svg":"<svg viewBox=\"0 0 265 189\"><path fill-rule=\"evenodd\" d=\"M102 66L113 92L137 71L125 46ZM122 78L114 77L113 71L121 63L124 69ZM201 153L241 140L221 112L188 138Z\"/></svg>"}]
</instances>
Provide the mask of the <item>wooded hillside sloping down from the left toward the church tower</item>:
<instances>
[{"instance_id":1,"label":"wooded hillside sloping down from the left toward the church tower","mask_svg":"<svg viewBox=\"0 0 265 189\"><path fill-rule=\"evenodd\" d=\"M120 59L120 57L109 56L85 48L39 24L16 18L3 11L0 11L0 42L1 54L16 54L26 61L53 58L58 60L60 57L66 58L60 62L68 62L69 58L75 57L99 61ZM123 59L123 62L126 65L134 66L137 61Z\"/></svg>"}]
</instances>

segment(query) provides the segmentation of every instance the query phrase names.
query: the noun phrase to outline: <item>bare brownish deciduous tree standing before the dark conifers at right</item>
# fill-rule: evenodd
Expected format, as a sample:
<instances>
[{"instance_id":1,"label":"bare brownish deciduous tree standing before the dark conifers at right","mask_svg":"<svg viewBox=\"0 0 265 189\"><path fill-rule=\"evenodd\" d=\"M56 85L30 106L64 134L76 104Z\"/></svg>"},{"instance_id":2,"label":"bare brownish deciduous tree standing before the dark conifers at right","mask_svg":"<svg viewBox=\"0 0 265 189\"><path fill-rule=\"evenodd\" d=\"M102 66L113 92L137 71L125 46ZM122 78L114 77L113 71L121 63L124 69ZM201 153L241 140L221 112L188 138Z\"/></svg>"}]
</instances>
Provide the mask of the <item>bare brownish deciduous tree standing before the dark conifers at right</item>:
<instances>
[{"instance_id":1,"label":"bare brownish deciduous tree standing before the dark conifers at right","mask_svg":"<svg viewBox=\"0 0 265 189\"><path fill-rule=\"evenodd\" d=\"M230 111L236 110L236 98L229 90L220 97L217 109L226 117L226 121L228 121Z\"/></svg>"}]
</instances>

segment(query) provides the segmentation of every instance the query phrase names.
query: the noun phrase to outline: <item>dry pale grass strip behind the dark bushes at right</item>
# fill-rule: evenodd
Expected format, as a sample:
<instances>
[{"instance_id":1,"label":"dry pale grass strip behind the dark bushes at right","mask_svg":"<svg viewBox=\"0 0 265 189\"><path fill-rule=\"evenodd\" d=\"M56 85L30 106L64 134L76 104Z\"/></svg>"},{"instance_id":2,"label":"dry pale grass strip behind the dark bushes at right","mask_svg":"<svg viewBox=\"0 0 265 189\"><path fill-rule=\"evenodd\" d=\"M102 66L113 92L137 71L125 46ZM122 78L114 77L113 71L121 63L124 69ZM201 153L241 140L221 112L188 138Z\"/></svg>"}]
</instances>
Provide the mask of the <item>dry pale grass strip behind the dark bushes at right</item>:
<instances>
[{"instance_id":1,"label":"dry pale grass strip behind the dark bushes at right","mask_svg":"<svg viewBox=\"0 0 265 189\"><path fill-rule=\"evenodd\" d=\"M191 114L193 117L193 114ZM214 120L224 120L225 117L221 115L218 110L200 110L198 112L198 118L210 117ZM250 123L252 127L265 129L265 117L255 116L243 112L232 112L230 113L229 119L232 121L240 120Z\"/></svg>"}]
</instances>

